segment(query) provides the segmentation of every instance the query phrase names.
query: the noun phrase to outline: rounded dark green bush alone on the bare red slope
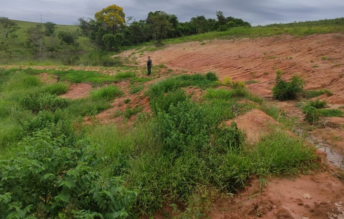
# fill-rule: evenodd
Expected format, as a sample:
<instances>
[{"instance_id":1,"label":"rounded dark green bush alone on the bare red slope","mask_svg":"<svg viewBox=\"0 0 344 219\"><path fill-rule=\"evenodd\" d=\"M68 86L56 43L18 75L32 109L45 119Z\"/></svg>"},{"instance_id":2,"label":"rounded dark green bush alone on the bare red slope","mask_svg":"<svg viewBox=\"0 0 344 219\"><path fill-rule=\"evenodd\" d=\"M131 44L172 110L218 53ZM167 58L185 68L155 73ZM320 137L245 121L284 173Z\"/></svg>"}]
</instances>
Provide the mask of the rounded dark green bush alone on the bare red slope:
<instances>
[{"instance_id":1,"label":"rounded dark green bush alone on the bare red slope","mask_svg":"<svg viewBox=\"0 0 344 219\"><path fill-rule=\"evenodd\" d=\"M281 78L281 73L276 73L276 85L271 89L273 98L277 100L293 100L296 99L299 94L304 93L304 80L302 78L294 75L289 82L286 82Z\"/></svg>"}]
</instances>

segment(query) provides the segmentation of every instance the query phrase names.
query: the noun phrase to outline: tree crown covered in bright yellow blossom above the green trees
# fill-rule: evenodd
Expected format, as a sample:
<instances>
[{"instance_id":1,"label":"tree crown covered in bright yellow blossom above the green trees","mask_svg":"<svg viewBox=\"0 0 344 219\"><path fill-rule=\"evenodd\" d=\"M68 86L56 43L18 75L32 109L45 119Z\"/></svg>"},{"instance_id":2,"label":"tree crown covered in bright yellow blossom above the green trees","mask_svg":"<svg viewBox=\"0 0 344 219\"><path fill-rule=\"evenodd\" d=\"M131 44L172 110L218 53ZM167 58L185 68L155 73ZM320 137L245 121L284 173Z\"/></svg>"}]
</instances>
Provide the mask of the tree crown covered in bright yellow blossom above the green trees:
<instances>
[{"instance_id":1,"label":"tree crown covered in bright yellow blossom above the green trees","mask_svg":"<svg viewBox=\"0 0 344 219\"><path fill-rule=\"evenodd\" d=\"M96 12L94 17L97 22L109 26L112 29L112 34L115 34L117 29L124 26L126 22L123 8L115 4Z\"/></svg>"}]
</instances>

